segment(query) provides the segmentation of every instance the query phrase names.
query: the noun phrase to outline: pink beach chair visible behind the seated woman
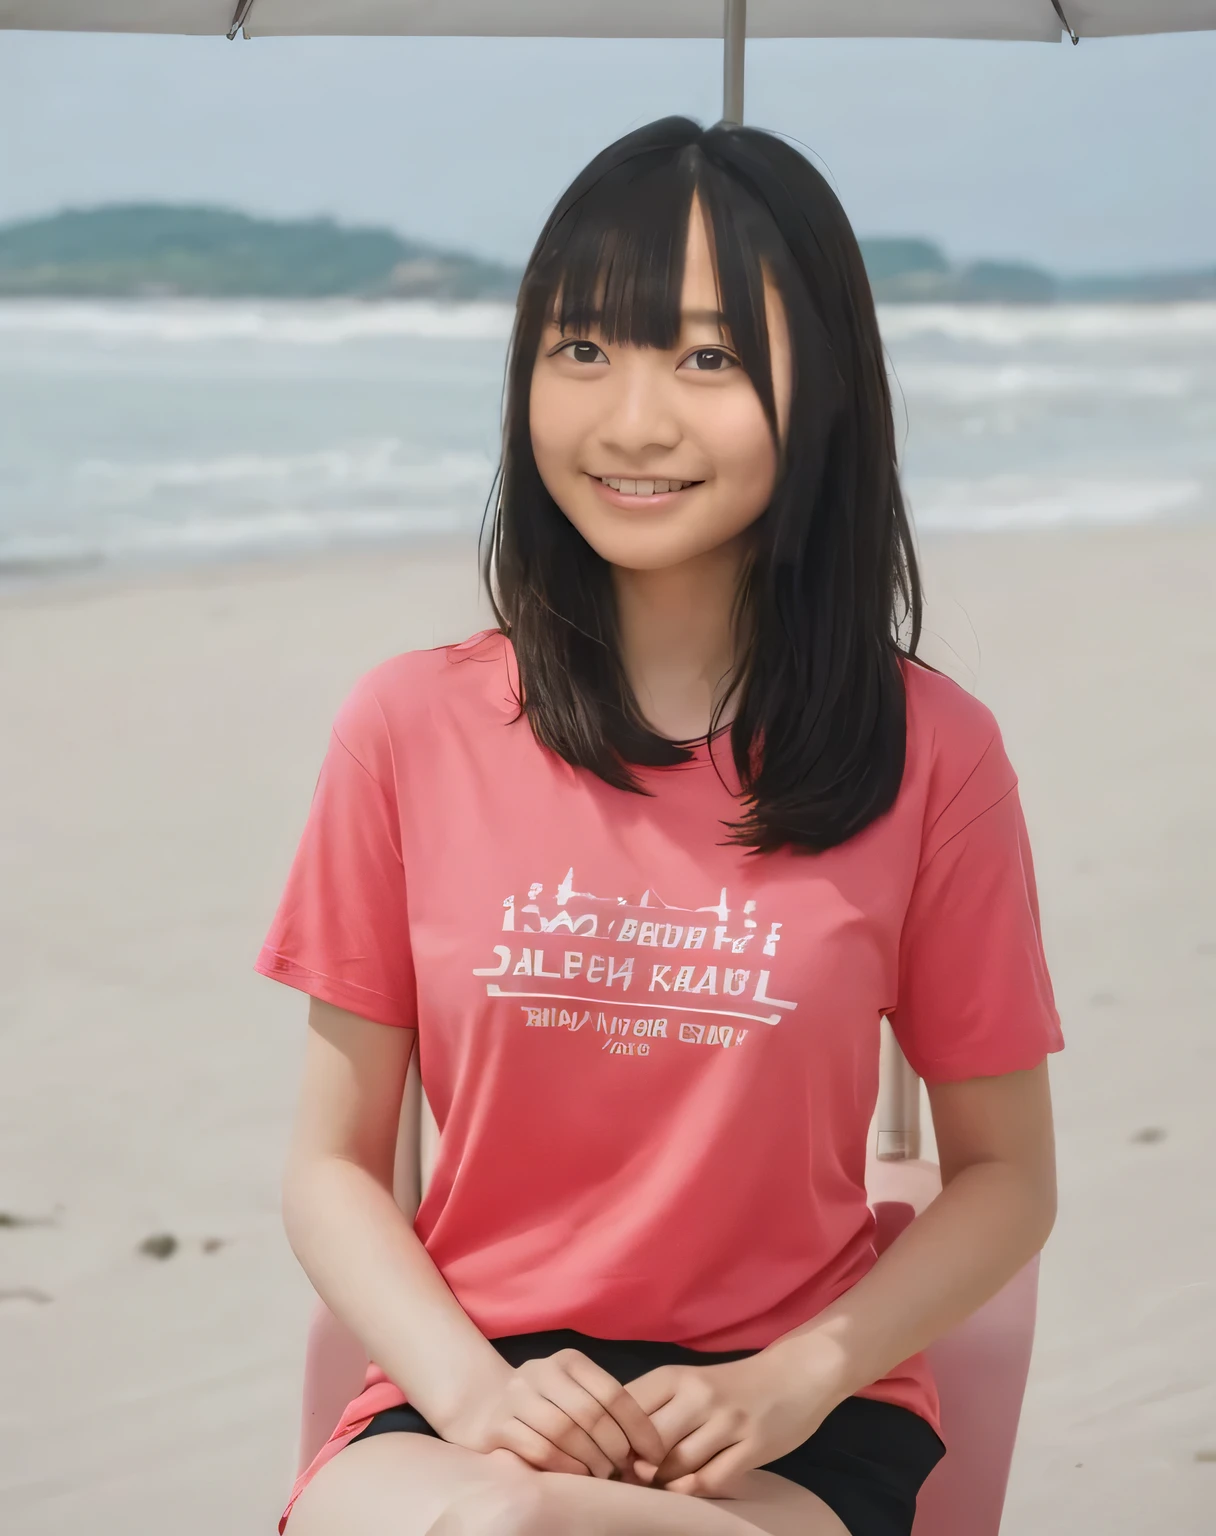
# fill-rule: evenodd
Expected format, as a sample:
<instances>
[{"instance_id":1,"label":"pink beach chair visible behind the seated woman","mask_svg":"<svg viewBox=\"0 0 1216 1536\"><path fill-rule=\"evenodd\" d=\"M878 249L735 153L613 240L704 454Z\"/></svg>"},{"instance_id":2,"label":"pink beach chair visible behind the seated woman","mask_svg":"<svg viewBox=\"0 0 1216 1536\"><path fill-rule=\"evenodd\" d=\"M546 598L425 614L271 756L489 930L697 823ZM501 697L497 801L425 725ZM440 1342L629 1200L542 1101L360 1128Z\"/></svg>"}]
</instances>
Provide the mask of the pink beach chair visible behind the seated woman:
<instances>
[{"instance_id":1,"label":"pink beach chair visible behind the seated woman","mask_svg":"<svg viewBox=\"0 0 1216 1536\"><path fill-rule=\"evenodd\" d=\"M941 1189L937 1163L920 1157L920 1080L886 1021L872 1140L866 1186L877 1220L875 1244L881 1252ZM410 1217L427 1186L436 1141L415 1051L393 1178L398 1204ZM921 1490L914 1536L998 1536L1030 1367L1036 1298L1038 1258L966 1322L929 1347L949 1453ZM362 1344L318 1301L304 1361L301 1471L332 1435L342 1409L362 1392L365 1370Z\"/></svg>"}]
</instances>

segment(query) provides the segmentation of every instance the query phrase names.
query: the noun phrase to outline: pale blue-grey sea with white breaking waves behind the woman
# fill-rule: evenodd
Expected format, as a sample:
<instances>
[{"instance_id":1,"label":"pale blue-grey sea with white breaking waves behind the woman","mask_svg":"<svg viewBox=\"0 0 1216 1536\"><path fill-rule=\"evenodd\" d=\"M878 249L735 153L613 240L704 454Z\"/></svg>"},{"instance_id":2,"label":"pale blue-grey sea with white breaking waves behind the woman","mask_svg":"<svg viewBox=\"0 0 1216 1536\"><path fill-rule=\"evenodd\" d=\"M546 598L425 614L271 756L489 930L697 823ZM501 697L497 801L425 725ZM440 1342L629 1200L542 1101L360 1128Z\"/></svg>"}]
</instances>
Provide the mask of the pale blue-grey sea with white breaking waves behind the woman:
<instances>
[{"instance_id":1,"label":"pale blue-grey sea with white breaking waves behind the woman","mask_svg":"<svg viewBox=\"0 0 1216 1536\"><path fill-rule=\"evenodd\" d=\"M1216 304L880 318L918 530L1216 516ZM0 581L474 533L510 321L0 303Z\"/></svg>"}]
</instances>

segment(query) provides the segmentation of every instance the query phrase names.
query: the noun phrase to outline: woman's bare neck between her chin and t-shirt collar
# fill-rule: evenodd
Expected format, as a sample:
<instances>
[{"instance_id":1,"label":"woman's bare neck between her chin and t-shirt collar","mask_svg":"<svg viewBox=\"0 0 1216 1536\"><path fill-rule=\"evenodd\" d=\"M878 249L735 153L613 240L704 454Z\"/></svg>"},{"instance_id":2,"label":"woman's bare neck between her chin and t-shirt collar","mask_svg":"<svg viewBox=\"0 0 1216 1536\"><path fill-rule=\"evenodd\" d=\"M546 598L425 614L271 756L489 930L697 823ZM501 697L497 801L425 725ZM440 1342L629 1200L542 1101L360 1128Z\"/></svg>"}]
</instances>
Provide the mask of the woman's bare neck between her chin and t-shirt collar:
<instances>
[{"instance_id":1,"label":"woman's bare neck between her chin and t-shirt collar","mask_svg":"<svg viewBox=\"0 0 1216 1536\"><path fill-rule=\"evenodd\" d=\"M620 660L660 736L692 740L709 730L739 659L731 614L742 562L732 542L666 570L613 567Z\"/></svg>"}]
</instances>

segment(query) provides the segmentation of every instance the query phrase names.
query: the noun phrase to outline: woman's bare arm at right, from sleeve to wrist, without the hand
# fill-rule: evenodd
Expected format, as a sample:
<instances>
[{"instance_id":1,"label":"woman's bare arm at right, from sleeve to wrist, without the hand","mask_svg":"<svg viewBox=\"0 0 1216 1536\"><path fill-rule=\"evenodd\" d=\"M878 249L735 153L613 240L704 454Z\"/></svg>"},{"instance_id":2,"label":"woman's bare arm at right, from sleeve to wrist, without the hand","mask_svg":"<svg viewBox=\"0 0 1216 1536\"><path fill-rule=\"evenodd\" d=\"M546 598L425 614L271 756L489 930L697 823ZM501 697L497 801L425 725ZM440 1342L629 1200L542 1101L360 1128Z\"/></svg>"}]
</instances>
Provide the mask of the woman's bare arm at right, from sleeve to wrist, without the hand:
<instances>
[{"instance_id":1,"label":"woman's bare arm at right, from sleeve to wrist, without the hand","mask_svg":"<svg viewBox=\"0 0 1216 1536\"><path fill-rule=\"evenodd\" d=\"M1043 1247L1055 1223L1047 1063L929 1087L943 1190L851 1290L769 1346L838 1402L961 1322Z\"/></svg>"}]
</instances>

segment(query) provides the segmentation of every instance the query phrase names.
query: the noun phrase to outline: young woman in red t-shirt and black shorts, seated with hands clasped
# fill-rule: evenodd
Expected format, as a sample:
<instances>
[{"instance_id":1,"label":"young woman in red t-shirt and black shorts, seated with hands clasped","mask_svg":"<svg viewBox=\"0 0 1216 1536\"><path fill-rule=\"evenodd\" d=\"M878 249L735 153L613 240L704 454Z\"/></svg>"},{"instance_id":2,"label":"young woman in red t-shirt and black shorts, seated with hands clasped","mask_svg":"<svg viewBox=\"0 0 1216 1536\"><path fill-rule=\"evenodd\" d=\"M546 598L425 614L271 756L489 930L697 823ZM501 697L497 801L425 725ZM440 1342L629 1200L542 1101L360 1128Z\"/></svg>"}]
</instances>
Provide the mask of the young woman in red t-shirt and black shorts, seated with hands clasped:
<instances>
[{"instance_id":1,"label":"young woman in red t-shirt and black shorts, seated with hands clasped","mask_svg":"<svg viewBox=\"0 0 1216 1536\"><path fill-rule=\"evenodd\" d=\"M1061 1037L1000 731L914 660L861 257L781 140L666 118L562 197L487 579L496 630L355 684L258 960L313 998L287 1233L375 1361L279 1530L907 1536L921 1350L1052 1227ZM946 1187L875 1261L884 1015Z\"/></svg>"}]
</instances>

